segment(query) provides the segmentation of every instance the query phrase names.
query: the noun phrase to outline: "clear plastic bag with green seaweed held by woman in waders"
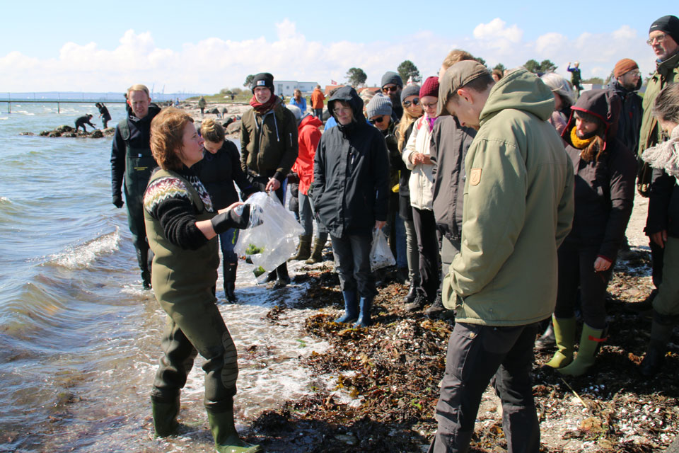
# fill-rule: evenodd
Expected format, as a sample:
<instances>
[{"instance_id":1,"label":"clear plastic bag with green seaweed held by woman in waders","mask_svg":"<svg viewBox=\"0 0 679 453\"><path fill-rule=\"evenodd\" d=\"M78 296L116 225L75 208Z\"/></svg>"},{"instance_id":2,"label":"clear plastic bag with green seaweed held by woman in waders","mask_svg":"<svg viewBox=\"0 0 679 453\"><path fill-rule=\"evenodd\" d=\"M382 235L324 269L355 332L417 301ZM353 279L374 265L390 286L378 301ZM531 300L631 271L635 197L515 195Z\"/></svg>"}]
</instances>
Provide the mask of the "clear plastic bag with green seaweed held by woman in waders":
<instances>
[{"instance_id":1,"label":"clear plastic bag with green seaweed held by woman in waders","mask_svg":"<svg viewBox=\"0 0 679 453\"><path fill-rule=\"evenodd\" d=\"M267 273L286 262L295 252L295 236L303 229L292 213L286 210L276 195L257 192L245 204L250 206L248 227L240 231L233 251L250 257L257 282L266 280ZM261 268L261 269L260 269Z\"/></svg>"}]
</instances>

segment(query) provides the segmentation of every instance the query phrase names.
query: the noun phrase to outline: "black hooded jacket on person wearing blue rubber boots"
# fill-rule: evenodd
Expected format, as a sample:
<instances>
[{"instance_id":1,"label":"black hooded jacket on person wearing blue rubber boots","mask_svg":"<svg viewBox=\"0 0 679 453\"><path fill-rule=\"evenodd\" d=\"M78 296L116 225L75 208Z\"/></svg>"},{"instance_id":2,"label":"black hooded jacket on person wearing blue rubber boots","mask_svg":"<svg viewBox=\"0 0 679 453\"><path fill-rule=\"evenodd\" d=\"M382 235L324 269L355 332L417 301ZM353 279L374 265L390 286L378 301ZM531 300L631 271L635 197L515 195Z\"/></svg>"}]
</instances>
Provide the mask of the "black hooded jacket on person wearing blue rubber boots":
<instances>
[{"instance_id":1,"label":"black hooded jacket on person wearing blue rubber boots","mask_svg":"<svg viewBox=\"0 0 679 453\"><path fill-rule=\"evenodd\" d=\"M316 217L332 236L369 235L376 220L387 219L389 156L381 132L366 123L363 101L350 86L328 101L351 105L354 121L325 131L313 163L311 197ZM335 118L337 120L337 118Z\"/></svg>"}]
</instances>

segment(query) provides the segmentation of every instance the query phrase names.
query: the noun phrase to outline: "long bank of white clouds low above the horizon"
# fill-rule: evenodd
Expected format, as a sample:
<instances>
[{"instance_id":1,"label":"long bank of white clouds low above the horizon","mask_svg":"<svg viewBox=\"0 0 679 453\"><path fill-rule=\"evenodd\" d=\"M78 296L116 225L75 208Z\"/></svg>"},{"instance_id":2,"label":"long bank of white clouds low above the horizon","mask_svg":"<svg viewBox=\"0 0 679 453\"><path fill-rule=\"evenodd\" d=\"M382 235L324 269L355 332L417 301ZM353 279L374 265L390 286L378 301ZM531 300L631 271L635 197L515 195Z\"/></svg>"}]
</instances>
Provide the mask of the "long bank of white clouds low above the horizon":
<instances>
[{"instance_id":1,"label":"long bank of white clouds low above the horizon","mask_svg":"<svg viewBox=\"0 0 679 453\"><path fill-rule=\"evenodd\" d=\"M163 48L150 32L127 30L112 50L97 42L66 42L58 55L37 59L21 52L0 57L0 86L4 91L123 91L134 83L165 87L166 93L214 93L242 86L245 76L269 71L277 79L344 81L347 69L361 67L368 84L379 83L385 71L410 59L423 78L437 74L441 61L453 48L483 57L490 66L501 62L515 67L528 59L550 59L567 75L569 61L579 60L584 77L605 77L615 62L632 58L644 73L654 69L654 56L643 33L623 25L613 33L584 33L568 38L547 33L524 40L518 25L500 18L480 23L473 37L443 38L429 31L404 35L398 41L321 43L299 33L288 19L275 24L277 38L186 42L178 49Z\"/></svg>"}]
</instances>

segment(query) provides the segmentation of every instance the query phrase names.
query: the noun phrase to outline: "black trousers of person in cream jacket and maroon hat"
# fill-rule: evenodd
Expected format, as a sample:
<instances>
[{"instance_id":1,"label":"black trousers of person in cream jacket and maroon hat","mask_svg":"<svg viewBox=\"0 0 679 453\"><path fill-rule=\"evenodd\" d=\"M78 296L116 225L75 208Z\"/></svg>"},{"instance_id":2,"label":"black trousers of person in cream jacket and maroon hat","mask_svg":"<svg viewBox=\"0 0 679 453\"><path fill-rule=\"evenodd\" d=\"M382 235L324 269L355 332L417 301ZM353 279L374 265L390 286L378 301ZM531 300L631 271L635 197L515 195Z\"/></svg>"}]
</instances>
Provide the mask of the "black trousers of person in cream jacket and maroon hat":
<instances>
[{"instance_id":1,"label":"black trousers of person in cream jacket and maroon hat","mask_svg":"<svg viewBox=\"0 0 679 453\"><path fill-rule=\"evenodd\" d=\"M419 275L426 299L434 302L439 290L441 275L441 253L439 253L439 229L436 227L434 211L412 208L412 223L417 233L419 251Z\"/></svg>"}]
</instances>

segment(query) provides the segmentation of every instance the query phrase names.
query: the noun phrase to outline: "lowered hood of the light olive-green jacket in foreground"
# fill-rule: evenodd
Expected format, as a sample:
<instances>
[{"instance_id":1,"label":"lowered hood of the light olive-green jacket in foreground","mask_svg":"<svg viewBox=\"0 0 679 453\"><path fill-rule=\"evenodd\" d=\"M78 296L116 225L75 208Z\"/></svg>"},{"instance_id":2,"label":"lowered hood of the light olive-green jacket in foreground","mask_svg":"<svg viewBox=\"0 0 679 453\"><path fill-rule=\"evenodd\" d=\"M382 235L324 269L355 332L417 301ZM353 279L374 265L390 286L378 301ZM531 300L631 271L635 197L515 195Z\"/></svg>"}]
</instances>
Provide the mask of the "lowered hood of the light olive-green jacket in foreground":
<instances>
[{"instance_id":1,"label":"lowered hood of the light olive-green jacket in foreground","mask_svg":"<svg viewBox=\"0 0 679 453\"><path fill-rule=\"evenodd\" d=\"M518 69L500 79L490 90L488 99L481 114L480 124L494 117L501 110L511 108L523 110L527 113L547 121L554 111L554 95L535 74Z\"/></svg>"}]
</instances>

